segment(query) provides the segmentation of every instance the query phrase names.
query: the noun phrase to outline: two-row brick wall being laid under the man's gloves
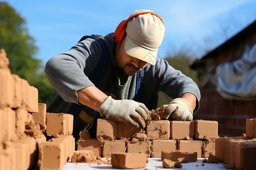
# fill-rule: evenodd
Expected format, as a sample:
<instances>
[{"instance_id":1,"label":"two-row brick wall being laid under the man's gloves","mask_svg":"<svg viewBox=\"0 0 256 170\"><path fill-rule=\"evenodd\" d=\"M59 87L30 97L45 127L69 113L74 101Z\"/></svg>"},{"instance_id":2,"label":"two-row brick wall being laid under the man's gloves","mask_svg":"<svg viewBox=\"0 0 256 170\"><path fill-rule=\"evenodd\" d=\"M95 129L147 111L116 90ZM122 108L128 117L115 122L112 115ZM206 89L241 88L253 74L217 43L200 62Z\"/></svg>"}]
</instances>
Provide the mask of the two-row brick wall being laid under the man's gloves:
<instances>
[{"instance_id":1,"label":"two-row brick wall being laid under the man's gloves","mask_svg":"<svg viewBox=\"0 0 256 170\"><path fill-rule=\"evenodd\" d=\"M197 158L215 154L218 138L216 121L151 120L145 129L135 129L117 121L98 119L97 139L78 141L78 150L93 150L94 155L110 158L114 152L143 153L160 158L161 152L197 152Z\"/></svg>"}]
</instances>

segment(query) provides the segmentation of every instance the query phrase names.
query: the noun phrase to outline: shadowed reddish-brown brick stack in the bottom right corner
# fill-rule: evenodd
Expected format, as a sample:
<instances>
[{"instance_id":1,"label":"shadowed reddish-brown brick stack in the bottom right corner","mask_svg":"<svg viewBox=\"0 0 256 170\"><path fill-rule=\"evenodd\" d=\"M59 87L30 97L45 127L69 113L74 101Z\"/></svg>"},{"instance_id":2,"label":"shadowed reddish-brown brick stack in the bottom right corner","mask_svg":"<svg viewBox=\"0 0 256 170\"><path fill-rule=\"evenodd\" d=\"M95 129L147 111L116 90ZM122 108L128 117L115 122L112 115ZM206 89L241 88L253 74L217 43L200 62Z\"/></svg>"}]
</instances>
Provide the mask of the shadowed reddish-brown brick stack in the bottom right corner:
<instances>
[{"instance_id":1,"label":"shadowed reddish-brown brick stack in the bottom right corner","mask_svg":"<svg viewBox=\"0 0 256 170\"><path fill-rule=\"evenodd\" d=\"M223 137L216 140L216 157L237 169L256 167L256 118L246 119L246 137Z\"/></svg>"}]
</instances>

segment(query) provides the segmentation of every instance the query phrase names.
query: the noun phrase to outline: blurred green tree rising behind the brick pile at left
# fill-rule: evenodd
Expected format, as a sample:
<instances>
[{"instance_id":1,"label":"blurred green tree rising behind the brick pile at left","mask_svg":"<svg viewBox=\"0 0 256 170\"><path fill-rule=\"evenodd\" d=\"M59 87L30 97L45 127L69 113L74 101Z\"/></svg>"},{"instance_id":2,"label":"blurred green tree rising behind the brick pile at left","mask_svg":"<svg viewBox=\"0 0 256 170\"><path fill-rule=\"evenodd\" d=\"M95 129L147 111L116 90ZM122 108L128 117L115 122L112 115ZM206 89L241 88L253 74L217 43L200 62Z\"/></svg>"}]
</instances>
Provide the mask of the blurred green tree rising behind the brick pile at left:
<instances>
[{"instance_id":1,"label":"blurred green tree rising behind the brick pile at left","mask_svg":"<svg viewBox=\"0 0 256 170\"><path fill-rule=\"evenodd\" d=\"M40 59L33 56L38 47L26 28L26 21L6 2L0 2L0 49L5 49L10 60L11 73L26 79L31 86L39 90L39 103L49 104L55 96ZM52 97L53 96L53 97Z\"/></svg>"}]
</instances>

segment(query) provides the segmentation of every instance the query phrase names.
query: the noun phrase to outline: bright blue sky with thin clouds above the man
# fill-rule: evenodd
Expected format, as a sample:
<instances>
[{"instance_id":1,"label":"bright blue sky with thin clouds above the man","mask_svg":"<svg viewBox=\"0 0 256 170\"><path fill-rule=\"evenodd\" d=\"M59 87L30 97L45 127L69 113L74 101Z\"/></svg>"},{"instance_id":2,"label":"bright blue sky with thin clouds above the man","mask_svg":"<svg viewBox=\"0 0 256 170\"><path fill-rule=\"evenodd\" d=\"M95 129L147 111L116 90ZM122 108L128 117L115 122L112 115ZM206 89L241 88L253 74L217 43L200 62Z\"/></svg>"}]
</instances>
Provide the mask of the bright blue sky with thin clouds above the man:
<instances>
[{"instance_id":1,"label":"bright blue sky with thin clouds above the man","mask_svg":"<svg viewBox=\"0 0 256 170\"><path fill-rule=\"evenodd\" d=\"M256 19L255 0L211 1L6 1L27 22L44 65L84 35L107 35L134 10L159 14L166 26L158 57L192 49L197 57L236 35Z\"/></svg>"}]
</instances>

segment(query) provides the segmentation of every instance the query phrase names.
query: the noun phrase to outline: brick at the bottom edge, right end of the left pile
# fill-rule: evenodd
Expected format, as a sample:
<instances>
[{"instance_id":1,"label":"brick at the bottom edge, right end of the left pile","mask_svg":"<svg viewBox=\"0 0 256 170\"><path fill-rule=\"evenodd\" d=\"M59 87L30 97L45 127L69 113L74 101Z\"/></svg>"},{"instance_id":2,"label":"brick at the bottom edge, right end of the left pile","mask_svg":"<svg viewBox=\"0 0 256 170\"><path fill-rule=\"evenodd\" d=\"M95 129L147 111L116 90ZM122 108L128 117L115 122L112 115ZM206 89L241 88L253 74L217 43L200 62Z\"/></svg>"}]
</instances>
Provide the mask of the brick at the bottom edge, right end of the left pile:
<instances>
[{"instance_id":1,"label":"brick at the bottom edge, right end of the left pile","mask_svg":"<svg viewBox=\"0 0 256 170\"><path fill-rule=\"evenodd\" d=\"M43 142L39 144L40 169L63 169L65 150L63 142Z\"/></svg>"}]
</instances>

